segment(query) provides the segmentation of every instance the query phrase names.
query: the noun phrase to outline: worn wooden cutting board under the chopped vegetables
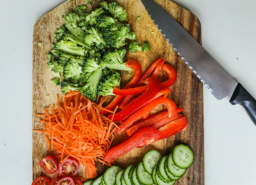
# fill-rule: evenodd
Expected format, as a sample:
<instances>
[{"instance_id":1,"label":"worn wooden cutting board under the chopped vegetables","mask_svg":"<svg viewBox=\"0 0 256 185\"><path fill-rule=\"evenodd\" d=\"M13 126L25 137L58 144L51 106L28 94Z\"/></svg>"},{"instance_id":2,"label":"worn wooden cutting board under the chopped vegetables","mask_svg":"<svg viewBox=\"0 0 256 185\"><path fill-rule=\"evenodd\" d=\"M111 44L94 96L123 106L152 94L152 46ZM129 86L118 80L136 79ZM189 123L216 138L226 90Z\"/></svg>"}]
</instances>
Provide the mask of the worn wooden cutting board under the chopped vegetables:
<instances>
[{"instance_id":1,"label":"worn wooden cutting board under the chopped vegetables","mask_svg":"<svg viewBox=\"0 0 256 185\"><path fill-rule=\"evenodd\" d=\"M201 44L201 25L198 18L191 12L178 6L169 0L154 0L163 7L176 21L178 21L200 44ZM188 119L189 126L185 131L177 135L158 141L149 146L134 149L131 152L121 156L115 161L116 165L125 168L131 163L142 161L143 155L151 150L159 150L163 155L170 154L173 147L178 143L189 145L195 153L195 161L187 170L185 175L176 182L176 184L204 184L204 124L203 124L203 84L195 76L179 55L173 50L170 44L165 40L155 26L145 7L140 0L117 0L118 4L123 5L127 11L128 20L132 31L136 32L138 41L147 40L151 46L151 52L137 52L132 54L127 52L126 59L133 59L140 62L144 72L150 64L158 57L163 57L166 63L171 64L177 70L177 81L171 87L172 93L169 97L174 100L178 107L182 107L182 112ZM99 2L95 1L93 9ZM41 113L42 108L49 104L56 104L56 94L61 94L60 87L50 83L54 78L52 72L48 69L48 58L46 54L52 48L52 42L55 42L53 34L55 27L61 27L64 20L61 18L66 12L74 11L74 8L80 5L87 5L86 0L68 0L50 11L35 23L33 32L33 129L43 129L36 113ZM140 20L137 17L140 16ZM152 33L152 31L154 33ZM41 41L42 45L38 45ZM130 79L131 75L122 74L121 87ZM161 71L160 81L166 81L168 75ZM49 95L47 97L47 94ZM109 100L110 101L110 100ZM165 106L158 106L151 112L155 114L166 109ZM115 133L115 139L112 146L115 146L127 139L126 134L118 135ZM39 176L45 176L52 179L56 176L44 173L39 161L48 155L45 138L41 133L33 132L33 180ZM81 166L81 165L80 165ZM107 166L102 163L96 163L98 174L101 175ZM80 167L78 176L84 176L84 168Z\"/></svg>"}]
</instances>

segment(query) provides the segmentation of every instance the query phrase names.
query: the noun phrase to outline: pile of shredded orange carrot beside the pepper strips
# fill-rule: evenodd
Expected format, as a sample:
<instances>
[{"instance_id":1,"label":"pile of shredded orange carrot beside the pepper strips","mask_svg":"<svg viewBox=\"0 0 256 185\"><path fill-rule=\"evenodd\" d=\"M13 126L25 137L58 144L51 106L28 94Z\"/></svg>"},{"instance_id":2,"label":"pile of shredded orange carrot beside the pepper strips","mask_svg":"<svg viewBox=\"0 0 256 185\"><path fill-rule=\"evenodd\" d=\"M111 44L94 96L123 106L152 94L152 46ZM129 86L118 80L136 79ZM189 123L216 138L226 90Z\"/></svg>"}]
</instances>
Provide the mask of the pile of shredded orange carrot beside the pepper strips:
<instances>
[{"instance_id":1,"label":"pile of shredded orange carrot beside the pepper strips","mask_svg":"<svg viewBox=\"0 0 256 185\"><path fill-rule=\"evenodd\" d=\"M45 136L49 153L60 162L73 157L85 166L85 178L95 178L97 160L111 166L110 162L102 159L114 139L113 132L118 128L112 120L100 114L101 105L107 97L101 98L97 104L79 91L70 91L63 98L57 95L56 109L55 105L51 109L49 105L43 109L44 114L37 114L43 116L40 119L43 130L33 131ZM116 109L109 112L114 116Z\"/></svg>"}]
</instances>

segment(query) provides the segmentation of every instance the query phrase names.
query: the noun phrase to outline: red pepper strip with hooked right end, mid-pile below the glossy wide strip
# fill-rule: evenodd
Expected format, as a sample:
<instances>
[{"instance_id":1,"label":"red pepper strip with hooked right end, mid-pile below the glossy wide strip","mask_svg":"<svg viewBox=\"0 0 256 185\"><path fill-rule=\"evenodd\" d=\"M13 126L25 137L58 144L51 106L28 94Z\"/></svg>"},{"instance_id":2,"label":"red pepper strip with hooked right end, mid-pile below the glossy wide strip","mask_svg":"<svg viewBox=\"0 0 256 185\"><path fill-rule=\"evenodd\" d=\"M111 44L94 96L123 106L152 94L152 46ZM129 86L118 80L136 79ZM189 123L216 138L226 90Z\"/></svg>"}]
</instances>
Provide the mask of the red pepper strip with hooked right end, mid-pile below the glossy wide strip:
<instances>
[{"instance_id":1,"label":"red pepper strip with hooked right end, mid-pile below the glossy wide strip","mask_svg":"<svg viewBox=\"0 0 256 185\"><path fill-rule=\"evenodd\" d=\"M119 129L116 129L116 132L118 134L121 134L124 130L129 128L135 121L141 119L144 114L152 111L156 106L160 104L164 104L167 106L169 117L176 114L177 106L173 100L171 100L170 98L158 97L149 102L148 104L146 104L140 110L131 115L129 118L127 118L122 124L119 125Z\"/></svg>"}]
</instances>

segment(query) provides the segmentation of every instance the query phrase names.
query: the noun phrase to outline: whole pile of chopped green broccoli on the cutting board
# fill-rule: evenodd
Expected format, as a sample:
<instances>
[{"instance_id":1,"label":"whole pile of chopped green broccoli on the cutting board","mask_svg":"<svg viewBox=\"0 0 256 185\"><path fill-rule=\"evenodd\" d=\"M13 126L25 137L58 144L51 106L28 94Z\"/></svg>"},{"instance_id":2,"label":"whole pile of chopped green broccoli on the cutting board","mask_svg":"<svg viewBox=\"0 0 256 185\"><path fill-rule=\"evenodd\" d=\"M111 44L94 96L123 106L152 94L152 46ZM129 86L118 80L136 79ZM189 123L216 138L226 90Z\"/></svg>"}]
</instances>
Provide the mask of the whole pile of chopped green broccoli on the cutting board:
<instances>
[{"instance_id":1,"label":"whole pile of chopped green broccoli on the cutting board","mask_svg":"<svg viewBox=\"0 0 256 185\"><path fill-rule=\"evenodd\" d=\"M87 0L92 5L94 0ZM126 23L127 13L116 2L102 1L100 7L91 9L78 6L74 12L62 16L65 24L56 28L53 48L48 56L48 66L60 85L62 93L80 91L96 100L97 95L113 95L119 88L120 74L116 70L130 71L125 66L126 39L135 40L135 33ZM38 43L39 45L41 42ZM144 43L144 50L150 51ZM139 42L130 44L131 52L142 51Z\"/></svg>"}]
</instances>

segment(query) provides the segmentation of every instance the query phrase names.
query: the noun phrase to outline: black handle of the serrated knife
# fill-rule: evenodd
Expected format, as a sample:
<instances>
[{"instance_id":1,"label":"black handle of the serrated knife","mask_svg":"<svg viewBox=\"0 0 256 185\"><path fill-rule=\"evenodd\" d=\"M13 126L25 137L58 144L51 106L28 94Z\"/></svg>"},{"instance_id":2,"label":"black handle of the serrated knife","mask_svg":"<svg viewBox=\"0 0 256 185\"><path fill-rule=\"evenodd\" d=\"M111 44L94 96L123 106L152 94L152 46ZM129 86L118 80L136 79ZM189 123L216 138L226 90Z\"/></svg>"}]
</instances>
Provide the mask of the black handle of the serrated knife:
<instances>
[{"instance_id":1,"label":"black handle of the serrated knife","mask_svg":"<svg viewBox=\"0 0 256 185\"><path fill-rule=\"evenodd\" d=\"M252 122L256 125L256 100L240 83L236 86L229 102L232 105L242 105L250 116Z\"/></svg>"}]
</instances>

